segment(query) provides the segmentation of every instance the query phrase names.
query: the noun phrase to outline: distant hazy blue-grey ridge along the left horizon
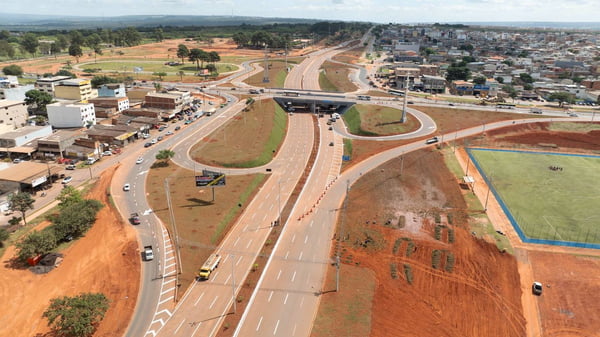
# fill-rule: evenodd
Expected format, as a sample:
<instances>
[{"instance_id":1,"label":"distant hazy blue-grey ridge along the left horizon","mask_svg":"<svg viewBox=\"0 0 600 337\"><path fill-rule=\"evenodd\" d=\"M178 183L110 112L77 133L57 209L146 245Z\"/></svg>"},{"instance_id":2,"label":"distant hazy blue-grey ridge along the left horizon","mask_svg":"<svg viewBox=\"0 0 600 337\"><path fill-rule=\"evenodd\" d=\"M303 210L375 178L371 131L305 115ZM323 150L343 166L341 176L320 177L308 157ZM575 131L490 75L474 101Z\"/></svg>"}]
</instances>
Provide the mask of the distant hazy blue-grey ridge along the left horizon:
<instances>
[{"instance_id":1,"label":"distant hazy blue-grey ridge along the left horizon","mask_svg":"<svg viewBox=\"0 0 600 337\"><path fill-rule=\"evenodd\" d=\"M122 28L155 26L238 26L274 23L308 23L323 20L251 16L128 15L114 17L49 16L0 13L0 29L43 31L52 29Z\"/></svg>"}]
</instances>

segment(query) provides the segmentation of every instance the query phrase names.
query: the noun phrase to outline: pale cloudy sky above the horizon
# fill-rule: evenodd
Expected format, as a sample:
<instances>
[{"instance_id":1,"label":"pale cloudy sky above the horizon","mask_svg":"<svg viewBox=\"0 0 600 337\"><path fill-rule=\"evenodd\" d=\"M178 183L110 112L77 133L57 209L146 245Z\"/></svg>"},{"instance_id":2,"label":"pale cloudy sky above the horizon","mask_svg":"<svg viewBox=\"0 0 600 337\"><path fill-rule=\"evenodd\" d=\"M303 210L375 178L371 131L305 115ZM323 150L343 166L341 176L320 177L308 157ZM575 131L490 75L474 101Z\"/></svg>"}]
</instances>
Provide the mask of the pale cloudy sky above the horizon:
<instances>
[{"instance_id":1,"label":"pale cloudy sky above the horizon","mask_svg":"<svg viewBox=\"0 0 600 337\"><path fill-rule=\"evenodd\" d=\"M599 0L0 0L44 15L236 15L377 23L598 22Z\"/></svg>"}]
</instances>

